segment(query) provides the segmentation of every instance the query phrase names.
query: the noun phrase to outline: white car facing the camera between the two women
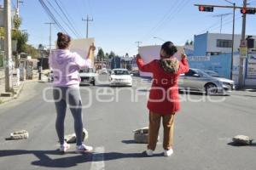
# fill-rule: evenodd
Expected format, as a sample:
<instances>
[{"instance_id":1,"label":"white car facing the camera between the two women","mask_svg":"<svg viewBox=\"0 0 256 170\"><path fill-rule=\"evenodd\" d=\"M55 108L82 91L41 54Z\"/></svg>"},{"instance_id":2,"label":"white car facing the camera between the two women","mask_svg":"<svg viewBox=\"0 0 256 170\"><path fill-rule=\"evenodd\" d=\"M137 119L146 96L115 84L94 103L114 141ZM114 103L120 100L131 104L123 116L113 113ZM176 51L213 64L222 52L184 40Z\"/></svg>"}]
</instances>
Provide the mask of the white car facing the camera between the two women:
<instances>
[{"instance_id":1,"label":"white car facing the camera between the two women","mask_svg":"<svg viewBox=\"0 0 256 170\"><path fill-rule=\"evenodd\" d=\"M132 86L131 76L127 69L113 69L109 76L110 86Z\"/></svg>"}]
</instances>

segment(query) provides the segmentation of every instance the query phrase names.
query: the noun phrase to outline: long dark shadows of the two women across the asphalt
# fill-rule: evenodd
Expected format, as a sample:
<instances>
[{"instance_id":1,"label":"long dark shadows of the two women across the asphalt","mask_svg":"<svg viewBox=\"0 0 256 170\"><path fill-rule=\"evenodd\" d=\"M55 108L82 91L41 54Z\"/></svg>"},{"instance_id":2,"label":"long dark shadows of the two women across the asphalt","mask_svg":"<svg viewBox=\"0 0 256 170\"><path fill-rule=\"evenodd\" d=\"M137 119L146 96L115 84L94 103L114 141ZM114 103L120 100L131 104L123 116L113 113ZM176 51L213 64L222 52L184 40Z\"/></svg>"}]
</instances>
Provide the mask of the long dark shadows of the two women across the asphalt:
<instances>
[{"instance_id":1,"label":"long dark shadows of the two women across the asphalt","mask_svg":"<svg viewBox=\"0 0 256 170\"><path fill-rule=\"evenodd\" d=\"M79 163L86 163L91 161L111 161L124 158L143 158L148 157L143 153L84 153L75 154L75 152L67 152L65 155L61 154L59 150L0 150L0 158L7 156L21 156L34 155L38 157L37 161L32 161L31 164L39 167L75 167ZM61 156L52 159L49 155ZM63 157L62 157L63 156ZM162 156L162 154L155 154L154 156ZM102 157L103 160L97 158Z\"/></svg>"}]
</instances>

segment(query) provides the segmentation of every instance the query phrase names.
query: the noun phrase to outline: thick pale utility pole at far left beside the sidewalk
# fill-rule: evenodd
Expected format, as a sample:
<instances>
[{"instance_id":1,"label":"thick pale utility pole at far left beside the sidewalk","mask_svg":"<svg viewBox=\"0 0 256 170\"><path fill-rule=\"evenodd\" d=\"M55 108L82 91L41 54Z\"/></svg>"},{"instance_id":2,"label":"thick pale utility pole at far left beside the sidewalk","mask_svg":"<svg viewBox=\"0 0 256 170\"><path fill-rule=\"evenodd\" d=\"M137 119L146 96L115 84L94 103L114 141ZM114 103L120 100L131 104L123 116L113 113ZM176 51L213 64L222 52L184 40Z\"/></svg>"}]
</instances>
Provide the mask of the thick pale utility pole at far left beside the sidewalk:
<instances>
[{"instance_id":1,"label":"thick pale utility pole at far left beside the sidewalk","mask_svg":"<svg viewBox=\"0 0 256 170\"><path fill-rule=\"evenodd\" d=\"M12 83L12 40L11 40L11 0L4 0L4 55L5 55L5 91L11 92Z\"/></svg>"}]
</instances>

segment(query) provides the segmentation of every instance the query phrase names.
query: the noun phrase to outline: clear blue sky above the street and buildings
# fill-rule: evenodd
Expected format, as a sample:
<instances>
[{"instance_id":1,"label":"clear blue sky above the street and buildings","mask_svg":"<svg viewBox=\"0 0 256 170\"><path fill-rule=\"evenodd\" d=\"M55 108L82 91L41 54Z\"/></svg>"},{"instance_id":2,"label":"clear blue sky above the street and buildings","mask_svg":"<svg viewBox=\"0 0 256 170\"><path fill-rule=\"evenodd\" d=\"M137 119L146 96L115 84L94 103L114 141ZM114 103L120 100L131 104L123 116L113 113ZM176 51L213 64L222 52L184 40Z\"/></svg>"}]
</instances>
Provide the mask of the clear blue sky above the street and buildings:
<instances>
[{"instance_id":1,"label":"clear blue sky above the street and buildings","mask_svg":"<svg viewBox=\"0 0 256 170\"><path fill-rule=\"evenodd\" d=\"M38 0L23 0L20 4L21 30L29 34L29 44L38 47L39 43L49 45L49 16ZM61 9L67 14L68 20ZM230 0L232 1L232 0ZM13 8L16 0L12 0ZM242 0L232 1L242 6ZM250 6L256 7L256 0L247 0ZM232 9L214 8L213 13L199 12L194 6L200 4L229 5L224 0L44 0L55 18L72 38L84 38L86 23L82 18L88 14L93 21L89 22L89 37L96 40L96 48L105 53L113 51L120 56L128 53L137 54L137 43L141 46L160 45L164 41L172 41L183 45L191 41L195 35L209 32L220 32L219 14L227 14L223 18L223 33L232 33ZM0 0L3 4L3 0ZM60 14L60 15L58 15ZM60 17L61 16L61 17ZM63 20L61 20L61 18ZM71 22L75 29L70 31L65 23ZM52 29L52 44L58 26ZM73 32L77 32L76 35ZM236 10L236 34L241 34L241 13ZM256 35L256 14L247 15L247 35ZM157 38L154 38L157 37Z\"/></svg>"}]
</instances>

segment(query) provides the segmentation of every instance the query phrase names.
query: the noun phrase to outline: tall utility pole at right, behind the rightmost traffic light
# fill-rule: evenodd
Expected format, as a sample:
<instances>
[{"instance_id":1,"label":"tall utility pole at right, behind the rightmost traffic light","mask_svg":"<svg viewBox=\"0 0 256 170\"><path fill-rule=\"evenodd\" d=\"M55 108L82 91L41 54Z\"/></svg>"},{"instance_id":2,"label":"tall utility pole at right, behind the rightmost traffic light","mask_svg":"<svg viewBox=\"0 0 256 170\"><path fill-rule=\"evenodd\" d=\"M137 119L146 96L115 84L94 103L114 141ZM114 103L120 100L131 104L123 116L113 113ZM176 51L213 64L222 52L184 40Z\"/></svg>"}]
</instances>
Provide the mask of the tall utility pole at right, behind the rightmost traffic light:
<instances>
[{"instance_id":1,"label":"tall utility pole at right, behind the rightmost traffic light","mask_svg":"<svg viewBox=\"0 0 256 170\"><path fill-rule=\"evenodd\" d=\"M243 8L247 8L247 0L243 1ZM241 27L241 43L240 46L244 46L246 44L246 24L247 24L247 14L242 14L242 27ZM247 46L247 44L246 44ZM244 82L244 76L243 76L243 70L244 70L244 58L240 54L240 62L239 62L239 77L238 77L238 88L243 88L243 82Z\"/></svg>"}]
</instances>

